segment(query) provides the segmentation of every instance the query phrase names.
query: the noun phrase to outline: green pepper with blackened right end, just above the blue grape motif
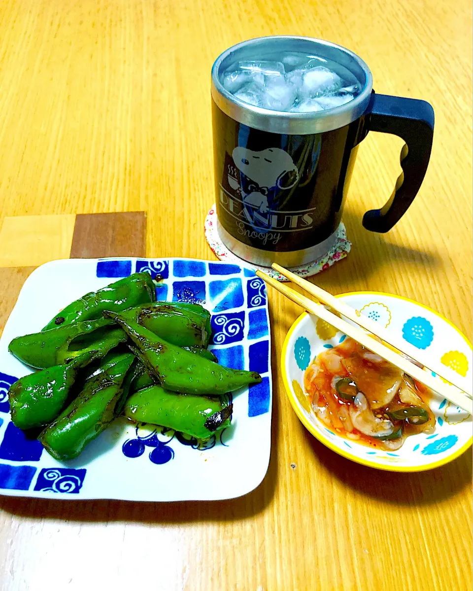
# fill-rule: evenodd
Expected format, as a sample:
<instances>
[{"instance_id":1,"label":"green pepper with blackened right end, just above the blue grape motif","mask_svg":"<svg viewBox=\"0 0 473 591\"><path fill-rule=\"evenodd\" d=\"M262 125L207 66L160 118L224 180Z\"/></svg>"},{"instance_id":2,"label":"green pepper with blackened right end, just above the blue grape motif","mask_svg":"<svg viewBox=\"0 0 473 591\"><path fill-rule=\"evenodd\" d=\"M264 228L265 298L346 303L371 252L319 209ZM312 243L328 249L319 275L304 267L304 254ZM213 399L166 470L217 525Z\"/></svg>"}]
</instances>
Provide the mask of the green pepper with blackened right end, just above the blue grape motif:
<instances>
[{"instance_id":1,"label":"green pepper with blackened right end, just above the blue grape motif","mask_svg":"<svg viewBox=\"0 0 473 591\"><path fill-rule=\"evenodd\" d=\"M195 396L152 386L132 394L125 405L126 417L143 423L182 431L208 439L230 426L233 404L226 397Z\"/></svg>"}]
</instances>

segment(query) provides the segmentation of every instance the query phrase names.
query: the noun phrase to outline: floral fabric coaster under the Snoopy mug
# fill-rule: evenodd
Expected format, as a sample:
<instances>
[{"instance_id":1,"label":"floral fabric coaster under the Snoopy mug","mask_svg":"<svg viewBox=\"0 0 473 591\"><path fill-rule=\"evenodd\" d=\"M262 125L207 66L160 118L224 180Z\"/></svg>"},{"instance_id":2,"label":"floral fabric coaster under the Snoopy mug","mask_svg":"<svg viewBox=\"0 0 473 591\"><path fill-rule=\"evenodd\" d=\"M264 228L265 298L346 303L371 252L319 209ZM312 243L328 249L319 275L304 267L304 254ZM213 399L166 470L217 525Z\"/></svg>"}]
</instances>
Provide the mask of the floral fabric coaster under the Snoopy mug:
<instances>
[{"instance_id":1,"label":"floral fabric coaster under the Snoopy mug","mask_svg":"<svg viewBox=\"0 0 473 591\"><path fill-rule=\"evenodd\" d=\"M215 204L210 209L205 218L205 238L207 239L208 245L212 249L213 253L221 261L233 261L239 265L246 265L253 269L261 269L267 273L270 277L277 279L278 281L288 281L283 275L275 271L270 267L263 267L262 265L255 265L253 263L244 261L229 251L229 249L221 241L220 236L217 232L217 213ZM337 240L334 246L324 256L321 256L316 261L308 262L305 265L299 265L299 267L289 267L289 270L301 277L311 277L316 275L320 271L325 271L331 267L335 262L341 261L347 256L351 249L351 242L347 239L347 231L345 225L340 222L337 230Z\"/></svg>"}]
</instances>

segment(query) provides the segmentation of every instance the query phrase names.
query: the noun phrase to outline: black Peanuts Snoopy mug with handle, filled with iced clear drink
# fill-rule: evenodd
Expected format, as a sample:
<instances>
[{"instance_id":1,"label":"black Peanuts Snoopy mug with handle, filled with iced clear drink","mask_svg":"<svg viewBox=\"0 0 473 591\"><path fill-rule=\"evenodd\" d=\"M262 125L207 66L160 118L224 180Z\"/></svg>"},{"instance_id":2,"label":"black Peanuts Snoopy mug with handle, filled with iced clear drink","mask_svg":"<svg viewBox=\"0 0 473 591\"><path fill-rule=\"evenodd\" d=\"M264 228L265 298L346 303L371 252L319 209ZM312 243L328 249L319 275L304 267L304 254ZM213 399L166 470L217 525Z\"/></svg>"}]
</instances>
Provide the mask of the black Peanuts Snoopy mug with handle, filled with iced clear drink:
<instances>
[{"instance_id":1,"label":"black Peanuts Snoopy mug with handle, filled with iced clear drink","mask_svg":"<svg viewBox=\"0 0 473 591\"><path fill-rule=\"evenodd\" d=\"M224 51L212 69L218 233L260 265L302 265L334 245L358 144L368 131L402 137L402 175L363 225L387 232L429 163L433 109L377 95L370 69L344 47L263 37Z\"/></svg>"}]
</instances>

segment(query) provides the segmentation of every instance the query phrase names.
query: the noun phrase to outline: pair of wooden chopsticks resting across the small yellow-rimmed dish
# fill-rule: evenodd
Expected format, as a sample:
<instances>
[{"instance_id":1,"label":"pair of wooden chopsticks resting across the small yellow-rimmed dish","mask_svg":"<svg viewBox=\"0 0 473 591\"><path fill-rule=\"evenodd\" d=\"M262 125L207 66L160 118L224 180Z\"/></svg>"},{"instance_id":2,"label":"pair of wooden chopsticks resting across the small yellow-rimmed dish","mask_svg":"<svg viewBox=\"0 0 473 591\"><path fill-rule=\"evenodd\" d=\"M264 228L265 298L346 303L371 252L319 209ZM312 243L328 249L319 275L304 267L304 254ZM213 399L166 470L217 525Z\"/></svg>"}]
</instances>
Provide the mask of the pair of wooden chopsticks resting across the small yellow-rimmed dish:
<instances>
[{"instance_id":1,"label":"pair of wooden chopsticks resting across the small yellow-rimmed dish","mask_svg":"<svg viewBox=\"0 0 473 591\"><path fill-rule=\"evenodd\" d=\"M272 265L275 271L278 271L280 274L287 277L299 287L302 287L305 291L307 291L312 296L317 298L317 302L309 299L306 296L302 296L297 291L293 290L292 288L288 287L283 283L269 277L263 271L256 271L258 277L262 278L266 283L274 287L284 296L288 297L289 300L292 300L299 306L302 306L308 312L315 314L325 322L328 322L341 332L345 333L352 337L353 339L357 340L358 343L365 346L366 348L370 349L377 355L380 355L386 361L393 363L396 367L402 369L402 371L409 374L414 379L419 380L422 384L425 384L433 391L438 392L443 398L452 402L459 408L467 411L469 414L473 414L473 401L472 401L472 394L469 391L465 391L465 388L462 385L458 385L454 372L447 368L446 366L439 366L438 363L433 362L431 359L429 360L426 358L425 355L419 355L419 351L407 342L397 342L396 337L393 334L386 330L383 326L379 326L374 320L363 316L362 314L358 315L357 311L354 310L351 306L344 303L340 299L332 296L322 288L317 287L317 285L312 284L305 279L299 277L299 275L295 275L291 271L281 267L280 265L274 263ZM331 309L337 311L338 313L342 314L345 318L351 320L357 326L353 326L352 324L348 323L346 320L336 316L330 310L327 310L325 306L323 306L320 302L323 302L327 306L330 306ZM368 331L365 332L363 329ZM371 334L370 334L371 333ZM380 343L376 339L373 339L373 335L379 337L384 342L388 343L392 347L396 349L396 351L390 349L383 343ZM413 361L420 363L429 371L420 368L419 366L415 365L415 363L406 359L401 353L408 355ZM422 359L419 359L422 357ZM442 378L448 380L449 384L442 384L441 381L435 379L432 375L432 372L441 376Z\"/></svg>"}]
</instances>

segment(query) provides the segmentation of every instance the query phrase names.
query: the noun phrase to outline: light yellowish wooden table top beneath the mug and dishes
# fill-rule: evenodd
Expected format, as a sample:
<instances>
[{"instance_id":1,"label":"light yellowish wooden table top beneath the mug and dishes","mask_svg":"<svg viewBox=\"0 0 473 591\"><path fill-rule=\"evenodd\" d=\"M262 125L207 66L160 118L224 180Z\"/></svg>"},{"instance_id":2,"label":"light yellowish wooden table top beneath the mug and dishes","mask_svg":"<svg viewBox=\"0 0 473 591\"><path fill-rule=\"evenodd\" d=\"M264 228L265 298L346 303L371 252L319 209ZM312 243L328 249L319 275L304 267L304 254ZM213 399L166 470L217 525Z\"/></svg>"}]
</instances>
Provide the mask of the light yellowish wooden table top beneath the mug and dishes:
<instances>
[{"instance_id":1,"label":"light yellowish wooden table top beneath the mug and dishes","mask_svg":"<svg viewBox=\"0 0 473 591\"><path fill-rule=\"evenodd\" d=\"M387 235L364 230L361 216L391 193L402 142L363 142L344 215L353 249L318 284L414 298L471 333L466 0L4 0L0 327L31 269L69 256L73 242L79 256L98 241L103 254L134 242L149 256L214 258L203 232L214 200L210 67L234 43L287 33L351 48L379 92L429 100L436 116L422 189ZM142 246L143 216L132 226L113 218L136 232L115 242L100 242L109 217L75 217L136 211L147 213ZM291 410L278 370L300 310L269 297L275 397L262 485L212 503L2 497L2 591L471 588L471 450L396 474L325 449Z\"/></svg>"}]
</instances>

